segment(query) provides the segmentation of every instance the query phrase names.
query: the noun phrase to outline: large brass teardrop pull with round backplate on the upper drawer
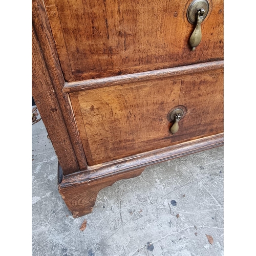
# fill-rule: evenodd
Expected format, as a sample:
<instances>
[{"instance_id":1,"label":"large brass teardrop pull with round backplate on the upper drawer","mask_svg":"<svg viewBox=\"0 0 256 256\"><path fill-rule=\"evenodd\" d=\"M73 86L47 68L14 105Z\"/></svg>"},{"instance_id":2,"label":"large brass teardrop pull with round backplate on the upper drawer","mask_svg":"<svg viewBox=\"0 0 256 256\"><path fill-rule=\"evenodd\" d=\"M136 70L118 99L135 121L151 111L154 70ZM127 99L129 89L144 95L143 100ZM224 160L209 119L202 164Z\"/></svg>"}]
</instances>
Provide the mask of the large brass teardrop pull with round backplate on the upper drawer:
<instances>
[{"instance_id":1,"label":"large brass teardrop pull with round backplate on the upper drawer","mask_svg":"<svg viewBox=\"0 0 256 256\"><path fill-rule=\"evenodd\" d=\"M201 24L209 12L209 2L207 0L194 0L187 9L187 19L196 27L189 39L191 51L195 51L202 39Z\"/></svg>"}]
</instances>

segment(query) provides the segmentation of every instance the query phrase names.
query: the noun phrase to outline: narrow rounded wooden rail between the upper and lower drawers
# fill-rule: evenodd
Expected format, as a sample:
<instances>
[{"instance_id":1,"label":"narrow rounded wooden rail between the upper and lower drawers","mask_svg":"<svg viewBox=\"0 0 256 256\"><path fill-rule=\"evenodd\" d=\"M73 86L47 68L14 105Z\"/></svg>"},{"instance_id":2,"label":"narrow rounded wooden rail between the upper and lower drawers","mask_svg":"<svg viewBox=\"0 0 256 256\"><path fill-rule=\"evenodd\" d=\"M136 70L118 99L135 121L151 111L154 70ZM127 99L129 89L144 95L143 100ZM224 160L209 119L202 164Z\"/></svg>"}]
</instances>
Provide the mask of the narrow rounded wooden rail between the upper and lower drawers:
<instances>
[{"instance_id":1,"label":"narrow rounded wooden rail between the upper and lower drawers","mask_svg":"<svg viewBox=\"0 0 256 256\"><path fill-rule=\"evenodd\" d=\"M62 89L62 92L71 93L71 92L79 92L90 89L96 89L100 87L107 86L117 86L120 84L131 83L131 82L139 82L150 79L157 78L165 78L172 76L179 76L179 78L183 78L186 75L191 75L194 73L205 72L205 74L212 70L222 69L224 67L224 61L210 61L205 63L198 63L194 65L175 67L169 69L160 69L154 71L146 71L129 75L120 75L120 76L112 76L107 78L98 78L98 79L89 79L78 82L65 82L65 86Z\"/></svg>"}]
</instances>

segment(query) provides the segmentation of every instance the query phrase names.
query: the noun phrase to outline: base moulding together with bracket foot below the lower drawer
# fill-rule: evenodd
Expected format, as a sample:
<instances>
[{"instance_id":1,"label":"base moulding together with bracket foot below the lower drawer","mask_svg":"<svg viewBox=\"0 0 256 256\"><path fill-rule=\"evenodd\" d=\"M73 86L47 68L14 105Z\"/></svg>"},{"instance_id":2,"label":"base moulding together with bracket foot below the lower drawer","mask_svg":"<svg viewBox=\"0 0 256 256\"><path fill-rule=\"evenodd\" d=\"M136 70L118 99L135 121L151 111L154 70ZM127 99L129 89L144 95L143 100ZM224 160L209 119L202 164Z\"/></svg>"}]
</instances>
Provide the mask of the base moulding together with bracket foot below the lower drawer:
<instances>
[{"instance_id":1,"label":"base moulding together with bracket foot below the lower drawer","mask_svg":"<svg viewBox=\"0 0 256 256\"><path fill-rule=\"evenodd\" d=\"M184 142L102 165L89 166L87 171L63 177L59 183L59 193L73 217L81 217L92 212L100 189L110 186L120 179L136 177L150 164L220 145L223 145L223 134Z\"/></svg>"}]
</instances>

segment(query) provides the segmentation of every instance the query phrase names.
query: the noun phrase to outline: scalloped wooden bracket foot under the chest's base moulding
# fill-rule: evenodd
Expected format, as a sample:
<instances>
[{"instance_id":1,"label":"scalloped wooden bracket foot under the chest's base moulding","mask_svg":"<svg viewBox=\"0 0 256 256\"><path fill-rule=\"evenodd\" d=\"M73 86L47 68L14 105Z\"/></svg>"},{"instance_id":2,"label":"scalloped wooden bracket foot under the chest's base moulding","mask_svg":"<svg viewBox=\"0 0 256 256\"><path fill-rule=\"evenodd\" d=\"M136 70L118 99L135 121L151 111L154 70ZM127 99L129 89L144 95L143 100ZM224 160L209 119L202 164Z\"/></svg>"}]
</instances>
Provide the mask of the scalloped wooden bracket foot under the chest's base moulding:
<instances>
[{"instance_id":1,"label":"scalloped wooden bracket foot under the chest's base moulding","mask_svg":"<svg viewBox=\"0 0 256 256\"><path fill-rule=\"evenodd\" d=\"M137 177L144 169L145 167L129 169L114 176L101 177L95 181L87 181L79 185L74 184L71 187L59 186L59 193L72 212L73 217L81 217L92 212L100 189L111 186L121 179Z\"/></svg>"}]
</instances>

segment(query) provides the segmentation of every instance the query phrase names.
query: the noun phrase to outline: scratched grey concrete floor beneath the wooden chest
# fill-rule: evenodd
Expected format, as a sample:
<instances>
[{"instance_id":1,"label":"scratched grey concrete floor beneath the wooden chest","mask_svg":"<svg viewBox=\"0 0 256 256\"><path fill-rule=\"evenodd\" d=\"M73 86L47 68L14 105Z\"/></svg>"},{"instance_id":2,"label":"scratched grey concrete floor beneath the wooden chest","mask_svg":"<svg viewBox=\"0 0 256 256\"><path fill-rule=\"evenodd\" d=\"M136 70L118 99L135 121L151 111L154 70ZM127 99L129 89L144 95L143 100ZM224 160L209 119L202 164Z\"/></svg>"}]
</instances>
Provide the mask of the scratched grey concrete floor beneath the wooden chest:
<instances>
[{"instance_id":1,"label":"scratched grey concrete floor beneath the wooden chest","mask_svg":"<svg viewBox=\"0 0 256 256\"><path fill-rule=\"evenodd\" d=\"M217 256L223 240L223 147L149 166L102 189L93 212L74 219L44 123L32 125L33 256Z\"/></svg>"}]
</instances>

